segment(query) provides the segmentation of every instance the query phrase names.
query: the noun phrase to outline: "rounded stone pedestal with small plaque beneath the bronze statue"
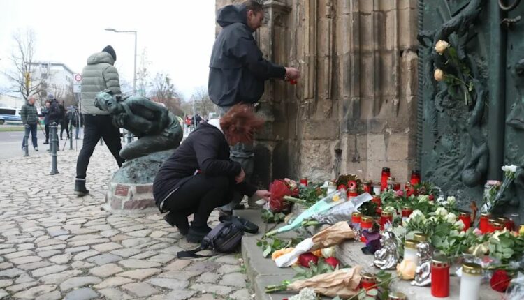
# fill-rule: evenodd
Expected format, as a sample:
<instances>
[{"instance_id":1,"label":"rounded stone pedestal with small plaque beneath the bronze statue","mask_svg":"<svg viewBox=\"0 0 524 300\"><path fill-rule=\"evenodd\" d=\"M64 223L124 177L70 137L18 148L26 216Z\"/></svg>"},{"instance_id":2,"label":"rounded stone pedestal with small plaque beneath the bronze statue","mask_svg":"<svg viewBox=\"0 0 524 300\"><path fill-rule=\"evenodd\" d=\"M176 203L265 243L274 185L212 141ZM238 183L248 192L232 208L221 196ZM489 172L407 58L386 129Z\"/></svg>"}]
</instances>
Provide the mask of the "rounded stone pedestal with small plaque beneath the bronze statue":
<instances>
[{"instance_id":1,"label":"rounded stone pedestal with small plaque beneath the bronze statue","mask_svg":"<svg viewBox=\"0 0 524 300\"><path fill-rule=\"evenodd\" d=\"M162 163L173 150L126 161L108 184L103 208L108 211L157 212L153 198L153 181Z\"/></svg>"}]
</instances>

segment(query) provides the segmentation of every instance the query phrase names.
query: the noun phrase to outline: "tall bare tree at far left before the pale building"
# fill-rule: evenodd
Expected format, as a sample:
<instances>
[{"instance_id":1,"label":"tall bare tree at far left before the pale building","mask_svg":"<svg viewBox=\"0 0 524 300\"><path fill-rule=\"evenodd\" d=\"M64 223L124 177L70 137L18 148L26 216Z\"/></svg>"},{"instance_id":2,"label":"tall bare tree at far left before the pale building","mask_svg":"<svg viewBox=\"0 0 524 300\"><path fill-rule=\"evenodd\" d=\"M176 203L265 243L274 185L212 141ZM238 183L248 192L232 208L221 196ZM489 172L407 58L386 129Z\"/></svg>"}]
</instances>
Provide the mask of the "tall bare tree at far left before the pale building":
<instances>
[{"instance_id":1,"label":"tall bare tree at far left before the pale building","mask_svg":"<svg viewBox=\"0 0 524 300\"><path fill-rule=\"evenodd\" d=\"M34 77L34 71L38 64L34 61L36 39L34 32L28 29L25 33L17 31L13 34L15 40L15 51L11 54L13 69L4 74L13 84L11 91L20 92L24 100L29 96L45 90L45 80L47 77Z\"/></svg>"}]
</instances>

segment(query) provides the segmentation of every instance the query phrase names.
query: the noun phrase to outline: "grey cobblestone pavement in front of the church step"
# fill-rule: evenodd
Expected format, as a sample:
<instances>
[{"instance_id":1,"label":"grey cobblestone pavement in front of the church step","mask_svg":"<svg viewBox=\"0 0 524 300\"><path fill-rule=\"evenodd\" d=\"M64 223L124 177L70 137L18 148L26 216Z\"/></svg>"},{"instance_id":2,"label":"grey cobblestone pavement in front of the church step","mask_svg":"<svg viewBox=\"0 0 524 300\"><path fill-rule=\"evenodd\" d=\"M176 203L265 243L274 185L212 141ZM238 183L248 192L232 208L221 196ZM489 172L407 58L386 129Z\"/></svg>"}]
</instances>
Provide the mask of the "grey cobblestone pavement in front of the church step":
<instances>
[{"instance_id":1,"label":"grey cobblestone pavement in front of the church step","mask_svg":"<svg viewBox=\"0 0 524 300\"><path fill-rule=\"evenodd\" d=\"M101 210L117 169L105 147L89 163L90 195L73 195L77 155L60 151L54 176L43 152L0 160L0 299L250 299L238 254L178 260L196 244L158 213Z\"/></svg>"}]
</instances>

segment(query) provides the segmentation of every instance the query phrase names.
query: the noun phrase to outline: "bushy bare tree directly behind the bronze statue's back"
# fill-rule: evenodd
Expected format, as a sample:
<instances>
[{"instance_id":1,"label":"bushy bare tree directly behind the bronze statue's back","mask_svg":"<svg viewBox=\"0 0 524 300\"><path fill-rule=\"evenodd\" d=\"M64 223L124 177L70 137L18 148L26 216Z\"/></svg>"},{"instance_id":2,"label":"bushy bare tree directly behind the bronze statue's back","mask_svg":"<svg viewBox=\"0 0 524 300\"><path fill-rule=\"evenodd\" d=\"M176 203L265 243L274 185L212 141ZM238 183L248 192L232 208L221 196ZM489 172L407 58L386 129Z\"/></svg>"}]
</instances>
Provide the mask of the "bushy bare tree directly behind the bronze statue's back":
<instances>
[{"instance_id":1,"label":"bushy bare tree directly behind the bronze statue's back","mask_svg":"<svg viewBox=\"0 0 524 300\"><path fill-rule=\"evenodd\" d=\"M150 97L151 100L166 105L173 114L184 115L184 112L180 109L180 93L178 93L175 84L171 82L168 74L157 73L155 75Z\"/></svg>"}]
</instances>

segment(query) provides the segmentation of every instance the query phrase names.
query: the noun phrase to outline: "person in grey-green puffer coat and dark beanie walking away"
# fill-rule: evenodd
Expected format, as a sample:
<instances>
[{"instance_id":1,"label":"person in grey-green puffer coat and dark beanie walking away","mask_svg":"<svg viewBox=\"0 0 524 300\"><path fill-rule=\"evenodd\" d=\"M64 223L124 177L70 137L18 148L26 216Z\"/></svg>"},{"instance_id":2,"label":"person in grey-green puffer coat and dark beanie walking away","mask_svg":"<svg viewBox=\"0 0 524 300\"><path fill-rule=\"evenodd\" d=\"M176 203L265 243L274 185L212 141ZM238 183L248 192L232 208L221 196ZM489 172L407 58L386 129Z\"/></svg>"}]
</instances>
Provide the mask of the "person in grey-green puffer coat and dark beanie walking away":
<instances>
[{"instance_id":1,"label":"person in grey-green puffer coat and dark beanie walking away","mask_svg":"<svg viewBox=\"0 0 524 300\"><path fill-rule=\"evenodd\" d=\"M85 177L89 158L91 158L96 143L101 138L109 151L115 156L117 164L122 167L124 159L119 156L122 144L120 143L119 128L112 125L108 112L94 106L94 98L105 89L110 89L113 95L119 95L120 82L115 66L117 54L111 46L103 48L102 52L92 54L87 59L87 66L82 70L82 93L80 103L84 121L84 141L76 161L75 194L84 196L89 193L85 188Z\"/></svg>"}]
</instances>

